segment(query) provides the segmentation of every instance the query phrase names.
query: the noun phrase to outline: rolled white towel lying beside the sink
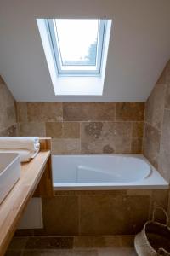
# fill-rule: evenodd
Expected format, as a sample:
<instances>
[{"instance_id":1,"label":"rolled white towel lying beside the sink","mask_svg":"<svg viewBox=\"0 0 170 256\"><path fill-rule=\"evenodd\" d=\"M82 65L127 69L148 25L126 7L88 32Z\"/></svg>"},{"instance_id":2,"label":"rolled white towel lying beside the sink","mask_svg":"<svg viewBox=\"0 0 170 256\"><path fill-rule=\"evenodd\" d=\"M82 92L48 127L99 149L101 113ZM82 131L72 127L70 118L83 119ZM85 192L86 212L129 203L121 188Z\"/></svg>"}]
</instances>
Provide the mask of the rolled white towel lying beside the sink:
<instances>
[{"instance_id":1,"label":"rolled white towel lying beside the sink","mask_svg":"<svg viewBox=\"0 0 170 256\"><path fill-rule=\"evenodd\" d=\"M0 137L0 149L37 151L39 148L39 137Z\"/></svg>"}]
</instances>

